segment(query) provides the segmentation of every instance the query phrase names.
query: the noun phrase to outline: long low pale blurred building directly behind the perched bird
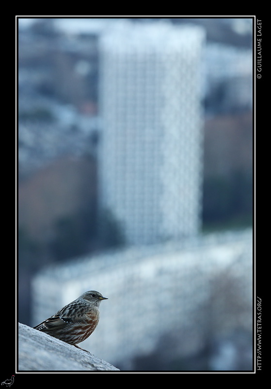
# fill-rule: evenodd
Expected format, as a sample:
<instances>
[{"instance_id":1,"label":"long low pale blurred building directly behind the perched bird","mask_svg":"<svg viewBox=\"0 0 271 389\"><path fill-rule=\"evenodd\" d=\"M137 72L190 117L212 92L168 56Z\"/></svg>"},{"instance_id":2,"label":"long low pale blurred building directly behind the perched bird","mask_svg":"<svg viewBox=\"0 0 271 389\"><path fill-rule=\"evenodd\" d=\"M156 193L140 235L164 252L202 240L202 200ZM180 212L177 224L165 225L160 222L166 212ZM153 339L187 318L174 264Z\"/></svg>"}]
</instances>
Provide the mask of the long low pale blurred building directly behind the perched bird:
<instances>
[{"instance_id":1,"label":"long low pale blurred building directly behind the perched bird","mask_svg":"<svg viewBox=\"0 0 271 389\"><path fill-rule=\"evenodd\" d=\"M94 289L109 300L80 346L121 370L148 370L147 358L154 370L251 370L252 251L244 230L47 267L32 283L32 325Z\"/></svg>"}]
</instances>

